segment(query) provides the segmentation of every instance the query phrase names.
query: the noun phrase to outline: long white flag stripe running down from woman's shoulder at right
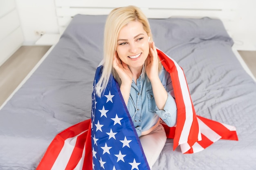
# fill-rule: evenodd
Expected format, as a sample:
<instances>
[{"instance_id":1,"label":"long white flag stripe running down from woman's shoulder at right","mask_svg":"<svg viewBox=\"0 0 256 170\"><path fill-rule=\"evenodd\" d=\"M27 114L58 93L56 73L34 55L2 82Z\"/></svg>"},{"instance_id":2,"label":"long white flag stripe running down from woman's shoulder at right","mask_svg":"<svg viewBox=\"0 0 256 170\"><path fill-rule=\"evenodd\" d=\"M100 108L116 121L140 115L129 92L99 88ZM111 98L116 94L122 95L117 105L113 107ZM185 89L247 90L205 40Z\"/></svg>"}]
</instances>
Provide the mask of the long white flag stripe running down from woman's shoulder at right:
<instances>
[{"instance_id":1,"label":"long white flag stripe running down from woman's shoulder at right","mask_svg":"<svg viewBox=\"0 0 256 170\"><path fill-rule=\"evenodd\" d=\"M168 56L168 55L166 55L166 56ZM183 72L182 68L170 56L168 56L168 57L173 61L173 63L175 64L175 66L177 68L178 79L180 82L182 97L183 97L184 104L185 104L186 119L185 119L184 126L182 129L181 135L180 135L180 140L179 140L179 144L184 144L188 141L191 125L193 122L192 103L191 103L189 89L187 87L186 79L185 79L184 72ZM198 133L198 136L200 136L200 135L201 135L201 133ZM200 138L201 138L201 136L200 136Z\"/></svg>"}]
</instances>

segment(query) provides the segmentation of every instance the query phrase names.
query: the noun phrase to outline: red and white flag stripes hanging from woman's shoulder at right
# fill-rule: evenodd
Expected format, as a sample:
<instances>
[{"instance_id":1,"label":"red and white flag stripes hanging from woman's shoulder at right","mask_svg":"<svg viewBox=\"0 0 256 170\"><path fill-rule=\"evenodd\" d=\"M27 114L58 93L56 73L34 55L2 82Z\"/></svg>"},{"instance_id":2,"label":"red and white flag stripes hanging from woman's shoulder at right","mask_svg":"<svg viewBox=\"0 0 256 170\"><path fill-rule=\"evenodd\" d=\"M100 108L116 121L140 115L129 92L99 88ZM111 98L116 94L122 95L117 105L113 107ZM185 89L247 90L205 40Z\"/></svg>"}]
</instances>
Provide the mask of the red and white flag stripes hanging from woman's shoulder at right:
<instances>
[{"instance_id":1,"label":"red and white flag stripes hanging from woman's shoulder at right","mask_svg":"<svg viewBox=\"0 0 256 170\"><path fill-rule=\"evenodd\" d=\"M184 149L182 152L186 152L196 141L201 140L201 134L195 115L195 109L189 94L189 88L186 83L184 72L177 62L160 50L157 50L157 53L162 65L166 71L170 73L174 94L176 96L177 125L173 140L173 150L175 150L178 145L182 144Z\"/></svg>"}]
</instances>

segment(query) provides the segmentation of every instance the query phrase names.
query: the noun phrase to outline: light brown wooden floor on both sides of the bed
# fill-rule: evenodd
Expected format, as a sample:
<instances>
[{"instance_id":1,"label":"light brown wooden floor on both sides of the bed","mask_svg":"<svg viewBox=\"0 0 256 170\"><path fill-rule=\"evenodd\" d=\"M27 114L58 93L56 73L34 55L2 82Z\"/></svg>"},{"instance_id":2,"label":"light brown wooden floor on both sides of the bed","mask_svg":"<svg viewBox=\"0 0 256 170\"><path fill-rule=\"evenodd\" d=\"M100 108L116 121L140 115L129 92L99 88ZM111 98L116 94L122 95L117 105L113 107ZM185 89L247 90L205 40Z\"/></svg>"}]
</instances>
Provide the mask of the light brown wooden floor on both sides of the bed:
<instances>
[{"instance_id":1,"label":"light brown wooden floor on both sides of the bed","mask_svg":"<svg viewBox=\"0 0 256 170\"><path fill-rule=\"evenodd\" d=\"M0 106L51 46L22 46L0 66ZM256 77L256 51L238 51Z\"/></svg>"}]
</instances>

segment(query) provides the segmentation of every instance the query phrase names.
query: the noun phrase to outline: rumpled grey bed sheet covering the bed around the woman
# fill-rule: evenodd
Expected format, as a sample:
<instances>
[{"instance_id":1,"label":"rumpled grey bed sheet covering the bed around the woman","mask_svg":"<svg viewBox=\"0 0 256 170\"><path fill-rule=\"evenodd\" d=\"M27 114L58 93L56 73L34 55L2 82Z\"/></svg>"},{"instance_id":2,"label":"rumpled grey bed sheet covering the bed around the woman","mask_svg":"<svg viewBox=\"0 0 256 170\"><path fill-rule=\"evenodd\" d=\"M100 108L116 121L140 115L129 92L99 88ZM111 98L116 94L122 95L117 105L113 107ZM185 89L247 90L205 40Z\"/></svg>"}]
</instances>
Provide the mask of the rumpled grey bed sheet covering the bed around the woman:
<instances>
[{"instance_id":1,"label":"rumpled grey bed sheet covering the bed around the woman","mask_svg":"<svg viewBox=\"0 0 256 170\"><path fill-rule=\"evenodd\" d=\"M106 16L76 15L60 41L0 110L0 170L33 170L52 139L91 115L94 72ZM156 46L182 66L197 115L236 126L239 141L219 140L183 155L168 139L153 170L256 169L256 83L231 50L220 20L150 19Z\"/></svg>"}]
</instances>

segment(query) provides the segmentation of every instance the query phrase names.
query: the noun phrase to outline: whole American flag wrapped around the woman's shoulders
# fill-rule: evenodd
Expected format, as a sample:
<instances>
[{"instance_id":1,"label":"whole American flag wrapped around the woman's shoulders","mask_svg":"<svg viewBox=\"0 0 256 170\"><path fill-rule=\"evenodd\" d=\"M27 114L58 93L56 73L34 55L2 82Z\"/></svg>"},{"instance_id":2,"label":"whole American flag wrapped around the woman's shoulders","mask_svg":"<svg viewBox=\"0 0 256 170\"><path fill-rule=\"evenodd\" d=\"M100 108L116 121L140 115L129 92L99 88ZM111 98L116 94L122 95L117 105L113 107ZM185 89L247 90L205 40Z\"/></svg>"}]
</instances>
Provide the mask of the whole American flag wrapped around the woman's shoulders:
<instances>
[{"instance_id":1,"label":"whole American flag wrapped around the woman's shoulders","mask_svg":"<svg viewBox=\"0 0 256 170\"><path fill-rule=\"evenodd\" d=\"M173 150L195 153L218 139L238 140L236 128L195 114L182 68L162 51L158 56L171 75L177 104L177 125L164 125L174 138ZM101 75L97 68L94 85ZM137 132L121 96L110 78L101 97L92 93L92 118L58 134L49 145L37 170L149 170Z\"/></svg>"}]
</instances>

